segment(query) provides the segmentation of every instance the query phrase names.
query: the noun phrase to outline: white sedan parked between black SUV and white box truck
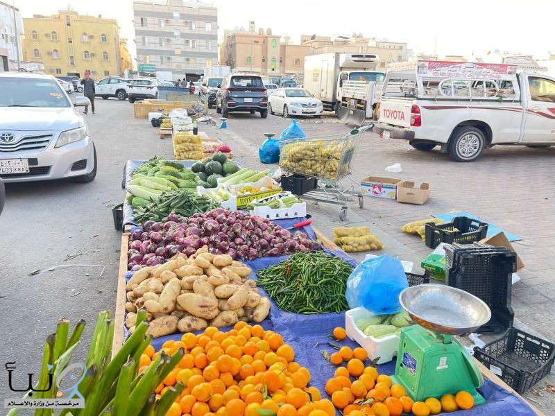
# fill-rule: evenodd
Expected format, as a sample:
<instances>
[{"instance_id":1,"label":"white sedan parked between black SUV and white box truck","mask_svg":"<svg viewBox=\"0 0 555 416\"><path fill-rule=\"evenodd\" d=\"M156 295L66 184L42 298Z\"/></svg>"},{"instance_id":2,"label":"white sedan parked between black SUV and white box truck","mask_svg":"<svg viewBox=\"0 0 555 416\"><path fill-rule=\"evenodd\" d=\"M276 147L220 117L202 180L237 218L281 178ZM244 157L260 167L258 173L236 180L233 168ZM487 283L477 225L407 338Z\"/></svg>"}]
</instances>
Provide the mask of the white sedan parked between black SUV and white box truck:
<instances>
[{"instance_id":1,"label":"white sedan parked between black SUV and white box truck","mask_svg":"<svg viewBox=\"0 0 555 416\"><path fill-rule=\"evenodd\" d=\"M304 88L278 88L268 97L268 112L282 114L284 119L289 116L322 116L322 101L314 98Z\"/></svg>"}]
</instances>

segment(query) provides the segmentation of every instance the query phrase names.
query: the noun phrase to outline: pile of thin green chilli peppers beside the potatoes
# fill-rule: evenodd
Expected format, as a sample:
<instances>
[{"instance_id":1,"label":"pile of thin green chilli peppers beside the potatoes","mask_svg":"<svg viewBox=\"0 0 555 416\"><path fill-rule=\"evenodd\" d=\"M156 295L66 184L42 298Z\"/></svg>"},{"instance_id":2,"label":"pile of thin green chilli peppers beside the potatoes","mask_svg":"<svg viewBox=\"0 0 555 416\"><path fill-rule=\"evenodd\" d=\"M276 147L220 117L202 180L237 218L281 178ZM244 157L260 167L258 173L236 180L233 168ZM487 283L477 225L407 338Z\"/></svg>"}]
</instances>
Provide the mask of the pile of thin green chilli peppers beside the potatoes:
<instances>
[{"instance_id":1,"label":"pile of thin green chilli peppers beside the potatoes","mask_svg":"<svg viewBox=\"0 0 555 416\"><path fill-rule=\"evenodd\" d=\"M258 284L285 311L294 313L341 312L352 266L324 252L296 253L257 272Z\"/></svg>"}]
</instances>

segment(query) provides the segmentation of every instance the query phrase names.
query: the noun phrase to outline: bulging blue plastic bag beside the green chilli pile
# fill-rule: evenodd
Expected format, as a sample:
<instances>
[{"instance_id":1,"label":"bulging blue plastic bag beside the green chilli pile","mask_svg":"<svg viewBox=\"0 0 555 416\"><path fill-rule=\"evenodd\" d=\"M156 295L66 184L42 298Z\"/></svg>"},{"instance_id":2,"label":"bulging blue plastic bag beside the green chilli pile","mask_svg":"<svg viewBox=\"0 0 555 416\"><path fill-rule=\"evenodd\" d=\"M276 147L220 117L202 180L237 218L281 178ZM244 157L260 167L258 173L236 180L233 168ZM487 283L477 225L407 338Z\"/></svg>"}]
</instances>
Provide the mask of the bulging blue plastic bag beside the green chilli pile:
<instances>
[{"instance_id":1,"label":"bulging blue plastic bag beside the green chilli pile","mask_svg":"<svg viewBox=\"0 0 555 416\"><path fill-rule=\"evenodd\" d=\"M364 306L377 315L391 314L401 310L399 294L407 287L399 259L379 256L363 261L352 271L345 297L351 309Z\"/></svg>"}]
</instances>

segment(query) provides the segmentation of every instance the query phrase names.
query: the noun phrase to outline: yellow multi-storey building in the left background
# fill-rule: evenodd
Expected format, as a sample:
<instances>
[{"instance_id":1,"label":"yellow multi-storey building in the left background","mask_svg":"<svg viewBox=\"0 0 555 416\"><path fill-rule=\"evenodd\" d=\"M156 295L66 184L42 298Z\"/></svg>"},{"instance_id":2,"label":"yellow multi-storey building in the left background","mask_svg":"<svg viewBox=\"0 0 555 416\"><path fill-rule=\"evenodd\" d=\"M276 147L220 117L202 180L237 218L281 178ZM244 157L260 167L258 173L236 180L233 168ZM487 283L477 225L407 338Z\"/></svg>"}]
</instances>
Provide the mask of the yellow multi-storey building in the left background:
<instances>
[{"instance_id":1,"label":"yellow multi-storey building in the left background","mask_svg":"<svg viewBox=\"0 0 555 416\"><path fill-rule=\"evenodd\" d=\"M89 71L97 79L123 75L115 19L60 10L58 15L24 18L23 23L24 59L44 63L44 73L82 77Z\"/></svg>"}]
</instances>

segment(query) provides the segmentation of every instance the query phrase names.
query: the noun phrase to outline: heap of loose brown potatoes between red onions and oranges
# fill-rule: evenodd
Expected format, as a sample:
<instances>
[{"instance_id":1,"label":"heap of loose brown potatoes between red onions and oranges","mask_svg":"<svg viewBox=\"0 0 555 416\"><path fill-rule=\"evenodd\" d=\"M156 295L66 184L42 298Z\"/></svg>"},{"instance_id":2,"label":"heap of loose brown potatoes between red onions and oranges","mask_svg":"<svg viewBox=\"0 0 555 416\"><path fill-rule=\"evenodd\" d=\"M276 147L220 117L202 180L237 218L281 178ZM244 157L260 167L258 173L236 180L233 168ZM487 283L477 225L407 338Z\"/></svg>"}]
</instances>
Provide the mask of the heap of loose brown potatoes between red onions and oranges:
<instances>
[{"instance_id":1,"label":"heap of loose brown potatoes between red onions and oranges","mask_svg":"<svg viewBox=\"0 0 555 416\"><path fill-rule=\"evenodd\" d=\"M126 327L135 329L137 311L146 309L147 335L228 327L239 320L262 322L270 300L262 297L250 268L228 254L214 255L205 246L187 258L177 254L167 263L138 270L126 286Z\"/></svg>"}]
</instances>

